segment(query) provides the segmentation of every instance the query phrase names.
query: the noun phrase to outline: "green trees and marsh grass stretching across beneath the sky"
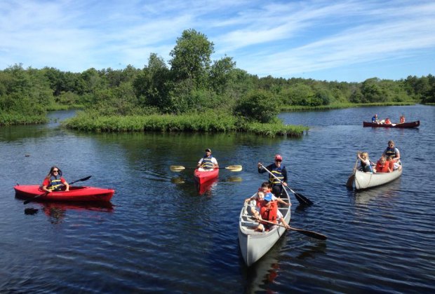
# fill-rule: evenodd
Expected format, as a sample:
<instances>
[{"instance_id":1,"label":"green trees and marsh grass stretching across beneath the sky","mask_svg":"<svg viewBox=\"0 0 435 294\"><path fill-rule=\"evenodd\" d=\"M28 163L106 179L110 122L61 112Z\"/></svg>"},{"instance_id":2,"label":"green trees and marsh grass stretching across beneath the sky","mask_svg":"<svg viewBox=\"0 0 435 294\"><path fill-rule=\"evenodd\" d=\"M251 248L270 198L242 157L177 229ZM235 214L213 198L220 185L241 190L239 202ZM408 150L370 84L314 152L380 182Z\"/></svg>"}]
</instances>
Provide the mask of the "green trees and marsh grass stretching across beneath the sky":
<instances>
[{"instance_id":1,"label":"green trees and marsh grass stretching across beneath the sky","mask_svg":"<svg viewBox=\"0 0 435 294\"><path fill-rule=\"evenodd\" d=\"M347 83L304 78L259 78L236 67L232 57L212 60L213 42L187 29L170 51L171 59L151 53L142 69L53 67L0 71L0 125L39 123L46 111L81 108L93 116L224 113L246 122L270 123L291 106L435 103L435 77L401 80L369 78Z\"/></svg>"}]
</instances>

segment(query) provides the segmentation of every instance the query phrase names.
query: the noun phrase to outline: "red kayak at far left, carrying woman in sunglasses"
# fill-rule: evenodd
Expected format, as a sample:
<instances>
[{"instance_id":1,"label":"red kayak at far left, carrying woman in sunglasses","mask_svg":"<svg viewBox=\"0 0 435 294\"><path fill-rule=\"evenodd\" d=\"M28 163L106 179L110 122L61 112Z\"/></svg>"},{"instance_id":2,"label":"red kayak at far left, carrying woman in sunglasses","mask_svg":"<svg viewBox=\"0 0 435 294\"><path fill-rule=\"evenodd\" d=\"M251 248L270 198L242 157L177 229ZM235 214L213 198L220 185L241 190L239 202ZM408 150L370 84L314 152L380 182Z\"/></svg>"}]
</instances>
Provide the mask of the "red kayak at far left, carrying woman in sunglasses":
<instances>
[{"instance_id":1,"label":"red kayak at far left, carrying woman in sunglasses","mask_svg":"<svg viewBox=\"0 0 435 294\"><path fill-rule=\"evenodd\" d=\"M39 185L17 185L15 197L20 199L32 199L37 195L37 201L83 201L83 202L107 202L115 193L113 189L95 187L69 187L69 191L57 191L44 195L45 191Z\"/></svg>"}]
</instances>

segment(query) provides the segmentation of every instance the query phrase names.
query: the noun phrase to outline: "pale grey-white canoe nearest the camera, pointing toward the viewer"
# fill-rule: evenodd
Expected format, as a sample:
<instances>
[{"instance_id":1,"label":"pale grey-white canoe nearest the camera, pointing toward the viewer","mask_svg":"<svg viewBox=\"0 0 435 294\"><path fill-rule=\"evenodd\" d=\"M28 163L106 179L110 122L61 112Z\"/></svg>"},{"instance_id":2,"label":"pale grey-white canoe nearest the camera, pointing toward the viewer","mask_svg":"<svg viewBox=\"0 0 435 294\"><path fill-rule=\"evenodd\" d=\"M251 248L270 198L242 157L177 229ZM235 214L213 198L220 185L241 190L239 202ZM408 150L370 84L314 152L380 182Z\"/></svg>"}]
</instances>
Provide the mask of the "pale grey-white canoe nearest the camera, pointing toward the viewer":
<instances>
[{"instance_id":1,"label":"pale grey-white canoe nearest the camera, pointing toward the viewer","mask_svg":"<svg viewBox=\"0 0 435 294\"><path fill-rule=\"evenodd\" d=\"M286 189L284 190L286 191ZM286 198L281 199L290 203L290 197L287 191ZM278 225L275 225L269 232L256 232L255 227L258 223L251 219L250 214L248 214L248 207L253 205L255 204L251 202L244 205L239 218L239 246L243 260L245 260L248 266L262 258L262 256L274 246L284 232L286 232L286 228ZM290 224L290 206L280 207L281 205L282 204L279 204L279 210L281 214L283 214L286 222Z\"/></svg>"}]
</instances>

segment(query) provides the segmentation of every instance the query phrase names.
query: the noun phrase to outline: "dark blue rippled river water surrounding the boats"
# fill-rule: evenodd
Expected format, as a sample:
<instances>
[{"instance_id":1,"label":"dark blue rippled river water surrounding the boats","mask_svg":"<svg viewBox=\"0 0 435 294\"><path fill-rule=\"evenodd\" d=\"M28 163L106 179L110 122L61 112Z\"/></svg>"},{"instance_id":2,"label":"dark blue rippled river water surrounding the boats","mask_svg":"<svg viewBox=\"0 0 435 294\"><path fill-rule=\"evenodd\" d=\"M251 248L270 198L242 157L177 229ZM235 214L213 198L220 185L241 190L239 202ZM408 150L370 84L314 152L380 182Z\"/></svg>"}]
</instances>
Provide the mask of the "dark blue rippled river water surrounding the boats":
<instances>
[{"instance_id":1,"label":"dark blue rippled river water surrounding the boats","mask_svg":"<svg viewBox=\"0 0 435 294\"><path fill-rule=\"evenodd\" d=\"M404 113L417 129L362 126ZM0 127L1 293L424 293L435 290L434 106L281 113L309 125L300 139L248 134L85 134L48 125ZM363 192L347 190L356 151L377 160L394 139L403 175ZM205 193L192 170L211 148L222 170ZM237 240L243 199L267 176L257 162L283 155L295 228L246 267ZM41 183L51 165L67 181L115 188L109 206L22 204L16 183ZM77 183L79 184L79 183ZM39 209L26 215L26 207Z\"/></svg>"}]
</instances>

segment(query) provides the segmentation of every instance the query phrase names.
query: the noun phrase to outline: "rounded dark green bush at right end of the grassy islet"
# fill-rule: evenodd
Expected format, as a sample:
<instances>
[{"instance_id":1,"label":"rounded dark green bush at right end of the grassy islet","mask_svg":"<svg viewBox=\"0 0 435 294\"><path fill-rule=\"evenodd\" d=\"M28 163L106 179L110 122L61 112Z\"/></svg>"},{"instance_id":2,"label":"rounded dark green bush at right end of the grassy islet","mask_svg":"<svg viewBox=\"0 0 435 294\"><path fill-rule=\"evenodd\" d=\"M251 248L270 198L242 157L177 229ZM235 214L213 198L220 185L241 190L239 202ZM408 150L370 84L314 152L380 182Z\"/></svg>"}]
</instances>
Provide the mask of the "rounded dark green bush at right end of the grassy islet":
<instances>
[{"instance_id":1,"label":"rounded dark green bush at right end of the grassy islet","mask_svg":"<svg viewBox=\"0 0 435 294\"><path fill-rule=\"evenodd\" d=\"M250 92L243 97L234 109L236 116L260 123L269 123L280 111L280 101L265 90Z\"/></svg>"}]
</instances>

